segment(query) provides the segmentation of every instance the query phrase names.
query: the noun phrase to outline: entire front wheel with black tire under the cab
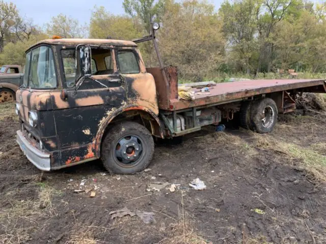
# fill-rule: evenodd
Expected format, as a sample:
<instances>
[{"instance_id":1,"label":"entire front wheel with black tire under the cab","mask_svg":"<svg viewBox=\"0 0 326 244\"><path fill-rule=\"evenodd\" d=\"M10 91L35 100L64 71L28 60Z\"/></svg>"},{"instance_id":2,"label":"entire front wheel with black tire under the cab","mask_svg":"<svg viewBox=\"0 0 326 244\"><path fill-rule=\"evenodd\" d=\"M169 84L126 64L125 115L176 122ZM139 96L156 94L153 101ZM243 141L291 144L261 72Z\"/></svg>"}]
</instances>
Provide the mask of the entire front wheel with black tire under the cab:
<instances>
[{"instance_id":1,"label":"entire front wheel with black tire under the cab","mask_svg":"<svg viewBox=\"0 0 326 244\"><path fill-rule=\"evenodd\" d=\"M133 140L135 143L132 143ZM127 150L132 147L133 149L128 154ZM136 151L137 148L138 151ZM128 155L137 156L135 154L138 154L140 150L139 158L134 162L125 159ZM132 121L114 125L104 136L101 145L101 160L105 169L111 173L134 174L142 171L149 165L153 154L154 141L151 133L144 126Z\"/></svg>"}]
</instances>

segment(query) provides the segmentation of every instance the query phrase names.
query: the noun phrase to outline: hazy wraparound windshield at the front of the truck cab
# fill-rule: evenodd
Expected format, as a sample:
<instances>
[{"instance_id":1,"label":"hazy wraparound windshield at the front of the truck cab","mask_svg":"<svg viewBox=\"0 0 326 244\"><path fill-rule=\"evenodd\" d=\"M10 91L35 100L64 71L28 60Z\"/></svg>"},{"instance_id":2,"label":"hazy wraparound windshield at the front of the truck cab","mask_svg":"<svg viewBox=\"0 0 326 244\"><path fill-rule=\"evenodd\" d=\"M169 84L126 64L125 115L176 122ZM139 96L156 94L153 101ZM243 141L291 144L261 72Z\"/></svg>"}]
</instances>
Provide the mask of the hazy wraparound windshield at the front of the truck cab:
<instances>
[{"instance_id":1,"label":"hazy wraparound windshield at the front of the truck cab","mask_svg":"<svg viewBox=\"0 0 326 244\"><path fill-rule=\"evenodd\" d=\"M51 48L41 46L26 54L25 74L28 73L29 76L24 76L25 86L36 89L57 87Z\"/></svg>"}]
</instances>

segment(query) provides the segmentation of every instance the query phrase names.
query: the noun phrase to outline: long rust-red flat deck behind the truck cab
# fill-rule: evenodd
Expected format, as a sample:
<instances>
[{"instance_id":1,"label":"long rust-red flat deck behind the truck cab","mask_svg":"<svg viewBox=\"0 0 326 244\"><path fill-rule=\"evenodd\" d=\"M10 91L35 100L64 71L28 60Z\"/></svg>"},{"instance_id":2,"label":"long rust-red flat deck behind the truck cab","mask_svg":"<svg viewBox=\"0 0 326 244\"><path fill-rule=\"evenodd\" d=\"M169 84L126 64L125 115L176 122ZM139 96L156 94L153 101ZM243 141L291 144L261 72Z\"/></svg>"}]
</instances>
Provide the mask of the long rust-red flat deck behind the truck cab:
<instances>
[{"instance_id":1,"label":"long rust-red flat deck behind the truck cab","mask_svg":"<svg viewBox=\"0 0 326 244\"><path fill-rule=\"evenodd\" d=\"M318 90L326 93L324 79L279 79L279 80L249 80L218 83L209 87L209 92L201 93L200 89L193 88L195 100L170 100L170 109L180 110L197 106L224 104L242 100L251 96L281 92L309 87L309 92Z\"/></svg>"}]
</instances>

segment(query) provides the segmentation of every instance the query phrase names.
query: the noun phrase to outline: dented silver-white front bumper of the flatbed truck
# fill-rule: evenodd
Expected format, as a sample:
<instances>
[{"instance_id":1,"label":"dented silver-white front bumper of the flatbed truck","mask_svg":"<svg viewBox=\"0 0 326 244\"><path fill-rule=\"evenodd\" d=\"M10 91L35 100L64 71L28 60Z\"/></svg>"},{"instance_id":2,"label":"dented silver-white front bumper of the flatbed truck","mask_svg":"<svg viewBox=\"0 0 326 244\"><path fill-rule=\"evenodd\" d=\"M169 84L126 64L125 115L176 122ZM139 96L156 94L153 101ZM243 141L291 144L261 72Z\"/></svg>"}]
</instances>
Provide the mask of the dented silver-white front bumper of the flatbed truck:
<instances>
[{"instance_id":1,"label":"dented silver-white front bumper of the flatbed truck","mask_svg":"<svg viewBox=\"0 0 326 244\"><path fill-rule=\"evenodd\" d=\"M50 171L50 154L44 153L35 146L33 146L19 130L17 131L17 143L20 146L20 149L23 151L26 158L33 163L38 169L44 171Z\"/></svg>"}]
</instances>

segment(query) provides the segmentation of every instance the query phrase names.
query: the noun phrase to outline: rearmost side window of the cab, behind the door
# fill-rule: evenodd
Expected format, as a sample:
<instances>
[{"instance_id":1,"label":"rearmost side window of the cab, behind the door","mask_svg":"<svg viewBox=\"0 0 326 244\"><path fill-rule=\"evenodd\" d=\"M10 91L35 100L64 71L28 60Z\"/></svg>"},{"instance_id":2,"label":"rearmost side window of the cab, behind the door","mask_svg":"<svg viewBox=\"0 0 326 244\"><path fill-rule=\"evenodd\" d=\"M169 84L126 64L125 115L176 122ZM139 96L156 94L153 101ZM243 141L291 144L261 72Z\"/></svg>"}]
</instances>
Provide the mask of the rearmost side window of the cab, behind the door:
<instances>
[{"instance_id":1,"label":"rearmost side window of the cab, behind the door","mask_svg":"<svg viewBox=\"0 0 326 244\"><path fill-rule=\"evenodd\" d=\"M118 63L120 73L122 74L135 74L140 72L138 60L133 51L119 50Z\"/></svg>"}]
</instances>

